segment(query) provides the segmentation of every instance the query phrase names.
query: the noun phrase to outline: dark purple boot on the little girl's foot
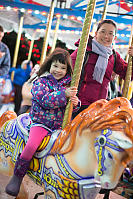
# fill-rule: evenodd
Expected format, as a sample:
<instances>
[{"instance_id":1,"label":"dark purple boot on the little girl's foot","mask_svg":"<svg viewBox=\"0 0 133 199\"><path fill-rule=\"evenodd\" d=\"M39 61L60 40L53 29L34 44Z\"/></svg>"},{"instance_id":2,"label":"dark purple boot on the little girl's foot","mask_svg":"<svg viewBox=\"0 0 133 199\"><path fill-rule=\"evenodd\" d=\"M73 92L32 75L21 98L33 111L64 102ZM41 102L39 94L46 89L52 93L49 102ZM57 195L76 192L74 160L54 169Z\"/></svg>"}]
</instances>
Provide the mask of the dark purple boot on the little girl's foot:
<instances>
[{"instance_id":1,"label":"dark purple boot on the little girl's foot","mask_svg":"<svg viewBox=\"0 0 133 199\"><path fill-rule=\"evenodd\" d=\"M6 193L11 196L17 196L20 190L20 186L30 165L30 161L23 160L20 155L17 158L14 168L14 175L12 176L10 182L6 186Z\"/></svg>"}]
</instances>

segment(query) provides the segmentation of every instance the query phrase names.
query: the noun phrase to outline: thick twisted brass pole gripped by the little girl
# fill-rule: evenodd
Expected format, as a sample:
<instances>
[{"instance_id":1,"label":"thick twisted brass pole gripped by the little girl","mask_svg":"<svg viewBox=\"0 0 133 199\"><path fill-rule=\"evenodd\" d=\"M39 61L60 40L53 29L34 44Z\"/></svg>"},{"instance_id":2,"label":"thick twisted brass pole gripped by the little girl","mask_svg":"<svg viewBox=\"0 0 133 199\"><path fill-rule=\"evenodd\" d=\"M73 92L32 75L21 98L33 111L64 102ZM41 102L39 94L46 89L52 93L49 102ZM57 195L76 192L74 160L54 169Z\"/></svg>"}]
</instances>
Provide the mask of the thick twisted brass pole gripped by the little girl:
<instances>
[{"instance_id":1,"label":"thick twisted brass pole gripped by the little girl","mask_svg":"<svg viewBox=\"0 0 133 199\"><path fill-rule=\"evenodd\" d=\"M90 33L91 21L94 14L95 4L96 4L96 0L90 0L87 5L87 10L86 10L85 20L83 24L79 48L77 52L71 86L78 87L78 84L79 84L80 74L81 74L82 65L84 61L84 55L86 52L86 46L88 43L88 37ZM64 128L71 121L72 110L73 110L72 103L69 101L65 110L62 128Z\"/></svg>"}]
</instances>

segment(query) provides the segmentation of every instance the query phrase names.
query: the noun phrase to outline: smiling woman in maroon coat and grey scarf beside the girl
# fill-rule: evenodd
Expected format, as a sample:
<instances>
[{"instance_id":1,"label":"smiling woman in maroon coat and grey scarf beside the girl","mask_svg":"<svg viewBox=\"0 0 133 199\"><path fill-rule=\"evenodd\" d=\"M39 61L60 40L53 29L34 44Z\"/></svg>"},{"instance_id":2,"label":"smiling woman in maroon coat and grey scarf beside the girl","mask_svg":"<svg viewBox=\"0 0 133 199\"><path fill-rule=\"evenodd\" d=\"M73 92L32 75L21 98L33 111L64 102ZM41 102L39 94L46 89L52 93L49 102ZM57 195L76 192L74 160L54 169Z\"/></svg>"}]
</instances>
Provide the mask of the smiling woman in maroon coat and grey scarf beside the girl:
<instances>
[{"instance_id":1,"label":"smiling woman in maroon coat and grey scarf beside the girl","mask_svg":"<svg viewBox=\"0 0 133 199\"><path fill-rule=\"evenodd\" d=\"M85 56L86 63L83 65L78 89L78 97L82 105L79 111L73 114L73 118L91 103L99 99L107 99L108 85L112 79L113 71L125 79L127 63L118 52L114 52L112 45L117 38L116 32L115 22L105 19L98 24L95 36L89 37ZM78 46L79 41L75 45ZM71 54L73 67L77 51L78 48ZM128 53L133 56L133 47L129 47Z\"/></svg>"}]
</instances>

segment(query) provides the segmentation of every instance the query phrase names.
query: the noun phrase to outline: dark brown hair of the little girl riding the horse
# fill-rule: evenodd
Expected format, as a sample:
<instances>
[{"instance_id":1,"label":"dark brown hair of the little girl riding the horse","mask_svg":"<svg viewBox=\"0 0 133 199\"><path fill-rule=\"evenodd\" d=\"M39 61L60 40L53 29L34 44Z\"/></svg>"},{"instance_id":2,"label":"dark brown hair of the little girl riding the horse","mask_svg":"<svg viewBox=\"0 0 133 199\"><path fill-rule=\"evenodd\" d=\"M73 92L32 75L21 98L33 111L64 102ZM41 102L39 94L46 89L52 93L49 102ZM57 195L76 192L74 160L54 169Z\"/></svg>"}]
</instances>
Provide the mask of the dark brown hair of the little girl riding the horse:
<instances>
[{"instance_id":1,"label":"dark brown hair of the little girl riding the horse","mask_svg":"<svg viewBox=\"0 0 133 199\"><path fill-rule=\"evenodd\" d=\"M55 48L55 50L46 57L44 63L41 65L40 70L38 71L38 76L41 76L44 72L50 72L51 64L54 61L59 61L62 64L67 65L67 74L72 76L72 60L69 52L62 48Z\"/></svg>"}]
</instances>

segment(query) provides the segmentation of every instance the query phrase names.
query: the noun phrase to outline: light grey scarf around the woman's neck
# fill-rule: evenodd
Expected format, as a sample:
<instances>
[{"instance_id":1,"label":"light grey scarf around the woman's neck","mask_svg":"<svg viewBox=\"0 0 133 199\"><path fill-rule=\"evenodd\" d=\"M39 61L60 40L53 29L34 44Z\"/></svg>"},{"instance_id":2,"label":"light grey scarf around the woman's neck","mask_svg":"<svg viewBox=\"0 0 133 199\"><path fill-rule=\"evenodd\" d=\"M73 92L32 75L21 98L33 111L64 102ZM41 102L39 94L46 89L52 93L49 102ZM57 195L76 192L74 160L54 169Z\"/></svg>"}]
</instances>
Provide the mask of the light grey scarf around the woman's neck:
<instances>
[{"instance_id":1,"label":"light grey scarf around the woman's neck","mask_svg":"<svg viewBox=\"0 0 133 199\"><path fill-rule=\"evenodd\" d=\"M93 79L102 84L105 71L108 65L109 56L112 55L112 47L106 47L98 43L95 39L92 40L92 51L99 55L94 72Z\"/></svg>"}]
</instances>

